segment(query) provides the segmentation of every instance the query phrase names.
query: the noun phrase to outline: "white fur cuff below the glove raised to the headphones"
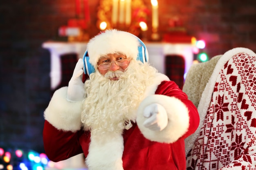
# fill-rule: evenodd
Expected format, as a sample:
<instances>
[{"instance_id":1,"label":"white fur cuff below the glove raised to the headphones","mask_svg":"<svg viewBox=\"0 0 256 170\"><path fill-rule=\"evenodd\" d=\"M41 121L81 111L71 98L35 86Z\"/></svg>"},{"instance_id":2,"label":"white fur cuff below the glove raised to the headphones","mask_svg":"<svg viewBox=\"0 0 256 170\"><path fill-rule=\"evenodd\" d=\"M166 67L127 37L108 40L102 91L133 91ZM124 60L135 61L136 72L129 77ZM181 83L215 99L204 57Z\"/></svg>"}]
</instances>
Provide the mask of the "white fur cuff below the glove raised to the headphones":
<instances>
[{"instance_id":1,"label":"white fur cuff below the glove raised to the headphones","mask_svg":"<svg viewBox=\"0 0 256 170\"><path fill-rule=\"evenodd\" d=\"M81 101L68 102L67 87L55 91L45 109L45 120L55 128L75 132L81 128Z\"/></svg>"}]
</instances>

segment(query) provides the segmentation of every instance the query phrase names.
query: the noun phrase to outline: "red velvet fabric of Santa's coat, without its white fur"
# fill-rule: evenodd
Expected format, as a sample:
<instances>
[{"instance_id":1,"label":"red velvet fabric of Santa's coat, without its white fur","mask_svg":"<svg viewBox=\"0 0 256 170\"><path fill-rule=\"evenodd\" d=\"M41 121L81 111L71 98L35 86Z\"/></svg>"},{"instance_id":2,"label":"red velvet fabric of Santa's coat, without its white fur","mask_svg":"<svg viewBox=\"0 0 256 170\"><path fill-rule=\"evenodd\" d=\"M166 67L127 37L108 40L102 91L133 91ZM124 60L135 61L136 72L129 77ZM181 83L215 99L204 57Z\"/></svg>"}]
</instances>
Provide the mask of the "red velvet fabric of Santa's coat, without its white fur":
<instances>
[{"instance_id":1,"label":"red velvet fabric of Santa's coat, without its white fur","mask_svg":"<svg viewBox=\"0 0 256 170\"><path fill-rule=\"evenodd\" d=\"M188 128L180 137L177 137L175 142L160 143L146 139L139 126L133 124L132 128L123 132L124 152L122 160L124 170L186 169L184 139L195 132L198 127L198 111L193 103L187 99L187 95L172 81L163 81L159 84L155 94L175 97L188 108ZM52 161L61 161L80 153L84 153L86 157L90 144L90 132L58 130L45 120L43 140L45 152Z\"/></svg>"}]
</instances>

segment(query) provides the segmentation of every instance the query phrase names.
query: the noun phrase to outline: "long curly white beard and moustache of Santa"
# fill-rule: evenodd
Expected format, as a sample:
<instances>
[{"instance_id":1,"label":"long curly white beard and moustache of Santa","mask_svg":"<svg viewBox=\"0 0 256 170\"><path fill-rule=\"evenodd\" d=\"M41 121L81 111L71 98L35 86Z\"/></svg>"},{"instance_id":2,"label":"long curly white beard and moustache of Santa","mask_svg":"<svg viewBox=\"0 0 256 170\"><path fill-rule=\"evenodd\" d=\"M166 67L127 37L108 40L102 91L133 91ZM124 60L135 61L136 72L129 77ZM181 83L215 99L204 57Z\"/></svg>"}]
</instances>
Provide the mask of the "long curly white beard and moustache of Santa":
<instances>
[{"instance_id":1,"label":"long curly white beard and moustache of Santa","mask_svg":"<svg viewBox=\"0 0 256 170\"><path fill-rule=\"evenodd\" d=\"M135 121L145 89L152 84L157 72L152 66L139 63L132 60L124 73L108 72L105 76L92 73L85 82L82 122L91 132L115 132ZM119 79L110 80L115 76Z\"/></svg>"}]
</instances>

